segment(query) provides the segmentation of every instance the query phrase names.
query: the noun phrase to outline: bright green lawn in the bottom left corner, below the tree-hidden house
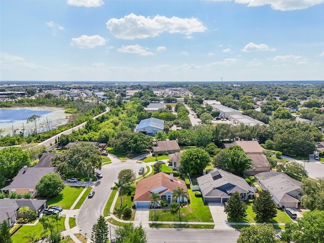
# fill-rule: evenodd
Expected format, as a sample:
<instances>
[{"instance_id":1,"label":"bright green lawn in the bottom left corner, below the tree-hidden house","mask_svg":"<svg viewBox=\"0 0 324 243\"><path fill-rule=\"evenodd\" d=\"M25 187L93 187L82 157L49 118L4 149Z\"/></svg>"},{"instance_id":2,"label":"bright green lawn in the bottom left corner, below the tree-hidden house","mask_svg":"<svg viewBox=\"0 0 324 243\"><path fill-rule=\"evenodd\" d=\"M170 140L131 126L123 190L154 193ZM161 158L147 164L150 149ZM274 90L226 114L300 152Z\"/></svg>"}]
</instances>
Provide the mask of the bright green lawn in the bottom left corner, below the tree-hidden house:
<instances>
[{"instance_id":1,"label":"bright green lawn in the bottom left corner, below the tree-hidden house","mask_svg":"<svg viewBox=\"0 0 324 243\"><path fill-rule=\"evenodd\" d=\"M64 230L65 229L64 220L65 220L65 217L61 217L61 221L58 224L58 229L59 230ZM54 223L54 227L56 229L56 221L53 220L53 223ZM35 236L37 238L41 238L44 235L44 228L43 228L42 224L37 223L35 226L23 225L20 229L17 230L16 233L14 233L11 236L12 242L13 243L15 243L15 242L17 242L17 243L18 242L19 243L27 243L29 241L27 235L31 234L31 233L35 233ZM47 230L46 235L49 235L49 234L50 234L50 231Z\"/></svg>"}]
</instances>

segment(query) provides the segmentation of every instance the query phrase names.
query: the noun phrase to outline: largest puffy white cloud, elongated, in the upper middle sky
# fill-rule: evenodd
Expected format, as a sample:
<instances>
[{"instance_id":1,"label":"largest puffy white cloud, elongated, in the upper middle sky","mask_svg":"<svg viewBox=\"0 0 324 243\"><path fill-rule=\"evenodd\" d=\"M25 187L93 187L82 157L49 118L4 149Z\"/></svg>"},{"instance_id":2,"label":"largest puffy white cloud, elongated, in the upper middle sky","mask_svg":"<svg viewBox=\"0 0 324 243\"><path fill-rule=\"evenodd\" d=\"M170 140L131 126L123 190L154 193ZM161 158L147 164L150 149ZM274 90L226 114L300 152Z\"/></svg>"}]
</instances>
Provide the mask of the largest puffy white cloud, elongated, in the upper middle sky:
<instances>
[{"instance_id":1,"label":"largest puffy white cloud, elongated, in the upper middle sky","mask_svg":"<svg viewBox=\"0 0 324 243\"><path fill-rule=\"evenodd\" d=\"M160 15L151 18L137 16L134 13L120 19L109 19L106 25L118 39L145 39L158 36L163 32L190 35L194 32L204 32L207 29L196 18L168 18Z\"/></svg>"}]
</instances>

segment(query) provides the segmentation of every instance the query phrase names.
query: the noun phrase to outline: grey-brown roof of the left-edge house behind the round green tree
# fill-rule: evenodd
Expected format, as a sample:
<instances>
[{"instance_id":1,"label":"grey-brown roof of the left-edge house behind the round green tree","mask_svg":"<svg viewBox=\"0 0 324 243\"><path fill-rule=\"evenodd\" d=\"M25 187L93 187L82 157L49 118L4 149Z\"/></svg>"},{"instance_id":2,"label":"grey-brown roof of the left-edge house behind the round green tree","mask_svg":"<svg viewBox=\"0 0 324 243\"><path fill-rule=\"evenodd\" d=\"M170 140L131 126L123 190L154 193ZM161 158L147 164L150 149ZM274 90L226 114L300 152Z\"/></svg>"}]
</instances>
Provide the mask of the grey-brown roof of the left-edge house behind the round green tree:
<instances>
[{"instance_id":1,"label":"grey-brown roof of the left-edge house behind the round green tree","mask_svg":"<svg viewBox=\"0 0 324 243\"><path fill-rule=\"evenodd\" d=\"M26 167L22 168L15 179L2 190L16 188L35 188L36 183L41 180L42 176L56 172L55 167Z\"/></svg>"}]
</instances>

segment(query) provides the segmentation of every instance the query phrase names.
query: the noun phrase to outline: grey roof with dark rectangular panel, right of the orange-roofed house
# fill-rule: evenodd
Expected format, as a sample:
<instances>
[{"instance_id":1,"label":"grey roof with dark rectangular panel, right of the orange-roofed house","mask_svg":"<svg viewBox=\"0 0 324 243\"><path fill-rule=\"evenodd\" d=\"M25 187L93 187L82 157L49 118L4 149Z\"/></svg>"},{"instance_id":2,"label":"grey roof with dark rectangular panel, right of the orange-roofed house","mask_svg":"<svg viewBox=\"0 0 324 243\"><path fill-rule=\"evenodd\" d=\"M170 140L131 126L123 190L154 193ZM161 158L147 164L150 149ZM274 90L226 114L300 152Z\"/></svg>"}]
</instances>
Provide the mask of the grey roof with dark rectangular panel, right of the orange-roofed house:
<instances>
[{"instance_id":1,"label":"grey roof with dark rectangular panel, right of the orange-roofed house","mask_svg":"<svg viewBox=\"0 0 324 243\"><path fill-rule=\"evenodd\" d=\"M227 191L240 190L239 192L251 192L253 189L241 177L221 169L213 169L209 174L197 178L203 196L226 196Z\"/></svg>"}]
</instances>

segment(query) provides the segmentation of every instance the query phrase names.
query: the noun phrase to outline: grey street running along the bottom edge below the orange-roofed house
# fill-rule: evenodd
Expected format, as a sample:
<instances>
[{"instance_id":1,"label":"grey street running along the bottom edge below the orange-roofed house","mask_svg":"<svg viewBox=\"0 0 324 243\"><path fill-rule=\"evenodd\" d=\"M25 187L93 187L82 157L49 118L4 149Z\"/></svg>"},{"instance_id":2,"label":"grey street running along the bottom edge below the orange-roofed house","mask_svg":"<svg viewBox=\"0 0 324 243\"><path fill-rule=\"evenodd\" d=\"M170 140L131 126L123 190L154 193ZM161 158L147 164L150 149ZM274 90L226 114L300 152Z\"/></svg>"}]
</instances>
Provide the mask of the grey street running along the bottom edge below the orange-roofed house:
<instances>
[{"instance_id":1,"label":"grey street running along the bottom edge below the orange-roofed house","mask_svg":"<svg viewBox=\"0 0 324 243\"><path fill-rule=\"evenodd\" d=\"M239 236L234 230L153 228L146 229L148 243L236 243Z\"/></svg>"}]
</instances>

